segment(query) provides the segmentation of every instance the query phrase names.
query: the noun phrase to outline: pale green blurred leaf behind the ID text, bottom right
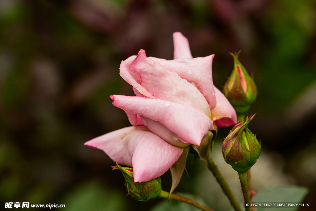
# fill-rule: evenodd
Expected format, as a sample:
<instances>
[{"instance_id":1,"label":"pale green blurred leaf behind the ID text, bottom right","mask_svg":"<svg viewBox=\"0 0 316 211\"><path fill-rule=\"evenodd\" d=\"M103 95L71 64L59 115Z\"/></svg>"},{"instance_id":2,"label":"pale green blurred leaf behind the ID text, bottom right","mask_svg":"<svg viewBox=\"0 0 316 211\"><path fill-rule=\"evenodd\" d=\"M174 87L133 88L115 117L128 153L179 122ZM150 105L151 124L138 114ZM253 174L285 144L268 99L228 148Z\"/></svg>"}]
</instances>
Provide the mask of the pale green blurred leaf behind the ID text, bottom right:
<instances>
[{"instance_id":1,"label":"pale green blurred leaf behind the ID text, bottom right","mask_svg":"<svg viewBox=\"0 0 316 211\"><path fill-rule=\"evenodd\" d=\"M278 186L259 190L253 202L302 202L308 189L299 186ZM258 211L295 211L298 208L258 208Z\"/></svg>"}]
</instances>

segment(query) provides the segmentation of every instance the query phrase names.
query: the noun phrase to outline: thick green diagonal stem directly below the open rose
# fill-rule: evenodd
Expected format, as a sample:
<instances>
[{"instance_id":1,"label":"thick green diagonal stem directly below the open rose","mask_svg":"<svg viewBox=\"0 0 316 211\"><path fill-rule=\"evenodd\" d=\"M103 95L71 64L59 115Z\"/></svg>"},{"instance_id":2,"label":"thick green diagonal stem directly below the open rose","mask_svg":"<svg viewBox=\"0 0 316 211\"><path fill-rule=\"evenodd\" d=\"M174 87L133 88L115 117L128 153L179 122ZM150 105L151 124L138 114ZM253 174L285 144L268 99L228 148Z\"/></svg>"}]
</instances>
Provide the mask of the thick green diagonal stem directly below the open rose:
<instances>
[{"instance_id":1,"label":"thick green diagonal stem directly below the open rose","mask_svg":"<svg viewBox=\"0 0 316 211\"><path fill-rule=\"evenodd\" d=\"M242 211L239 203L237 202L233 192L229 188L226 180L222 176L221 172L218 170L217 166L214 164L213 159L211 158L210 154L208 155L207 158L207 165L210 171L212 171L214 177L216 178L217 182L221 186L224 194L228 197L228 200L230 204L233 206L234 210L236 211Z\"/></svg>"}]
</instances>

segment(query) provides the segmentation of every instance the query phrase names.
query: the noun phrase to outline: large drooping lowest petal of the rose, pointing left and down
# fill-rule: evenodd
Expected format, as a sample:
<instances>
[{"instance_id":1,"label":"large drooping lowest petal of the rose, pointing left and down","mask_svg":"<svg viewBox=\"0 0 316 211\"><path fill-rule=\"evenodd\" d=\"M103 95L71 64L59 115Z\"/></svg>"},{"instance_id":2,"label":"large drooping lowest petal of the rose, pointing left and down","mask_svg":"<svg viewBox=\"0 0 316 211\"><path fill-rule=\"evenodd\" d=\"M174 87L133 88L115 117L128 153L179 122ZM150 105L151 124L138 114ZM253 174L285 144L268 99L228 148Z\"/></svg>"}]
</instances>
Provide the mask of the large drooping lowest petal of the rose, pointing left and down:
<instances>
[{"instance_id":1,"label":"large drooping lowest petal of the rose, pointing left and down","mask_svg":"<svg viewBox=\"0 0 316 211\"><path fill-rule=\"evenodd\" d=\"M160 177L178 160L183 148L171 146L145 126L125 127L85 143L103 150L113 161L132 166L134 182Z\"/></svg>"}]
</instances>

